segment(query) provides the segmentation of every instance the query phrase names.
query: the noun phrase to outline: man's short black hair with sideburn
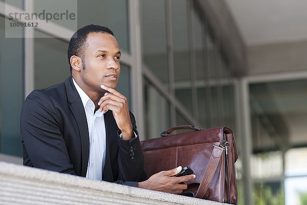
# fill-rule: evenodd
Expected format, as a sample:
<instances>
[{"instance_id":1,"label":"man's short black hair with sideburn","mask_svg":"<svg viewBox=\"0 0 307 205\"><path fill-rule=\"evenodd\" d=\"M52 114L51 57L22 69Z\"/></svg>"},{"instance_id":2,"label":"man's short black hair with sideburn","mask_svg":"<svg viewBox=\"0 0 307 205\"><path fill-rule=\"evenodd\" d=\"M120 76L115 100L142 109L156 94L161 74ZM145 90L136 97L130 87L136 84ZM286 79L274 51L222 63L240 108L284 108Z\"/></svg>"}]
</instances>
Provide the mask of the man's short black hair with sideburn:
<instances>
[{"instance_id":1,"label":"man's short black hair with sideburn","mask_svg":"<svg viewBox=\"0 0 307 205\"><path fill-rule=\"evenodd\" d=\"M72 73L72 66L70 64L70 58L73 55L76 55L78 57L82 58L82 64L84 64L84 50L86 48L86 39L87 35L90 33L109 33L114 36L114 33L107 27L99 26L99 25L87 25L80 29L78 29L74 35L71 37L68 50L67 50L67 56L68 56L68 63L70 65L70 71ZM85 64L84 64L85 65Z\"/></svg>"}]
</instances>

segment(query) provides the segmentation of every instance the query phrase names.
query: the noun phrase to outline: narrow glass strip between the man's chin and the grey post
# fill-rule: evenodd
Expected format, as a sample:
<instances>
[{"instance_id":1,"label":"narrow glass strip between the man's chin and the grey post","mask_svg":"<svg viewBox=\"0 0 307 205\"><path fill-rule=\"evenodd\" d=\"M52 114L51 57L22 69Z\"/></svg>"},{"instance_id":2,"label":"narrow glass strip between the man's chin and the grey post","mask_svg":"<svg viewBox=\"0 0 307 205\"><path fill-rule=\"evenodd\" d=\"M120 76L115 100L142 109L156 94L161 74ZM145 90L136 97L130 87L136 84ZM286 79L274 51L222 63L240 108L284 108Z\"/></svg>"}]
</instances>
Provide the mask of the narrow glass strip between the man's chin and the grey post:
<instances>
[{"instance_id":1,"label":"narrow glass strip between the man's chin and the grey post","mask_svg":"<svg viewBox=\"0 0 307 205\"><path fill-rule=\"evenodd\" d=\"M131 109L131 84L130 84L130 67L120 64L120 75L116 90L124 95Z\"/></svg>"}]
</instances>

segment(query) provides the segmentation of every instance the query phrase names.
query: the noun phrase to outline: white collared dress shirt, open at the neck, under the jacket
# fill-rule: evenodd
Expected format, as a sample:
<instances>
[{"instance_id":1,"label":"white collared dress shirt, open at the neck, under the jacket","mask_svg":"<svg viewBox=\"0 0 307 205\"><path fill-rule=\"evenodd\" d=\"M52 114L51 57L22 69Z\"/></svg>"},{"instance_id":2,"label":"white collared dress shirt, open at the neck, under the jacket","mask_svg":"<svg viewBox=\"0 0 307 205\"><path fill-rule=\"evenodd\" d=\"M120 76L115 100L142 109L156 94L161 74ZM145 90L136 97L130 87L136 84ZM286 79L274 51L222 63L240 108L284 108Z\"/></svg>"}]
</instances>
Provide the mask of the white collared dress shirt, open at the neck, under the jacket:
<instances>
[{"instance_id":1,"label":"white collared dress shirt, open at the neck, under the jacket","mask_svg":"<svg viewBox=\"0 0 307 205\"><path fill-rule=\"evenodd\" d=\"M105 125L104 116L99 109L94 113L95 104L89 96L77 85L73 78L74 85L81 97L85 110L87 127L89 127L90 155L87 164L86 178L102 180L105 164Z\"/></svg>"}]
</instances>

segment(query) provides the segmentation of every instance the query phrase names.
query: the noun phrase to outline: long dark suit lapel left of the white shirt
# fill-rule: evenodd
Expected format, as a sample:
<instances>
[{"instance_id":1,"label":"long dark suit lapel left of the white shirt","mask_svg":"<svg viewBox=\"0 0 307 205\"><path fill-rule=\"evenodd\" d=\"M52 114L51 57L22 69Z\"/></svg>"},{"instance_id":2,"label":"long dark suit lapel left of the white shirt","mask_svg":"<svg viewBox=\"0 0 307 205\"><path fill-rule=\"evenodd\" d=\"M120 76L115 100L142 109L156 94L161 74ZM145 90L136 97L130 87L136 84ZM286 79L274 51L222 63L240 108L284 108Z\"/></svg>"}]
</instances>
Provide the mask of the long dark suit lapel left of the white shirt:
<instances>
[{"instance_id":1,"label":"long dark suit lapel left of the white shirt","mask_svg":"<svg viewBox=\"0 0 307 205\"><path fill-rule=\"evenodd\" d=\"M81 138L81 153L82 153L82 169L81 176L86 176L87 164L89 163L89 152L90 152L90 139L89 139L89 128L87 127L87 120L84 111L84 107L77 92L72 76L65 80L65 87L67 98L70 103L70 109L75 116L78 124L80 138Z\"/></svg>"}]
</instances>

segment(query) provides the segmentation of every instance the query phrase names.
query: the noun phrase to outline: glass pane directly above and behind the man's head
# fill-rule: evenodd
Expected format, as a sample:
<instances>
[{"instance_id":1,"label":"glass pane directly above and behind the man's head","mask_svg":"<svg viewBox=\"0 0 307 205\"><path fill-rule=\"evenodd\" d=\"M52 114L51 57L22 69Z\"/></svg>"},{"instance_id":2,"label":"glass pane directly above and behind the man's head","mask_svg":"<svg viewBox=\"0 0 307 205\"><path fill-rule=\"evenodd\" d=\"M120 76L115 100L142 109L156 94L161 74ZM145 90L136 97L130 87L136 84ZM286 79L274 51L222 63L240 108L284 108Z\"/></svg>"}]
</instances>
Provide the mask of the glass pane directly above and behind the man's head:
<instances>
[{"instance_id":1,"label":"glass pane directly above and behind the man's head","mask_svg":"<svg viewBox=\"0 0 307 205\"><path fill-rule=\"evenodd\" d=\"M114 32L119 47L129 51L127 0L78 1L78 28L89 24L106 26Z\"/></svg>"}]
</instances>

